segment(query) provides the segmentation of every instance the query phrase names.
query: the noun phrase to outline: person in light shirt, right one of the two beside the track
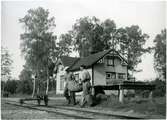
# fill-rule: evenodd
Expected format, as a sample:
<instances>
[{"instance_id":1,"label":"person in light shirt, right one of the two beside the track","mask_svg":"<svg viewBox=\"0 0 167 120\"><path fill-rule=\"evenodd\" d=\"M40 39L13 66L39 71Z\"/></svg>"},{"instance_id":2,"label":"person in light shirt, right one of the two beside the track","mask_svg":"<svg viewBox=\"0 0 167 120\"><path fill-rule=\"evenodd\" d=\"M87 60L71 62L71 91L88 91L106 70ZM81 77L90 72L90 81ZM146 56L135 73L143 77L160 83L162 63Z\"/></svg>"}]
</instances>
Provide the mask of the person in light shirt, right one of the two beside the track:
<instances>
[{"instance_id":1,"label":"person in light shirt, right one of the two beside the track","mask_svg":"<svg viewBox=\"0 0 167 120\"><path fill-rule=\"evenodd\" d=\"M85 65L81 65L80 70L81 70L80 80L81 80L82 88L83 88L83 93L81 97L81 107L83 107L85 103L88 102L87 96L91 95L91 83L90 83L91 77L90 77L89 72L86 70Z\"/></svg>"}]
</instances>

